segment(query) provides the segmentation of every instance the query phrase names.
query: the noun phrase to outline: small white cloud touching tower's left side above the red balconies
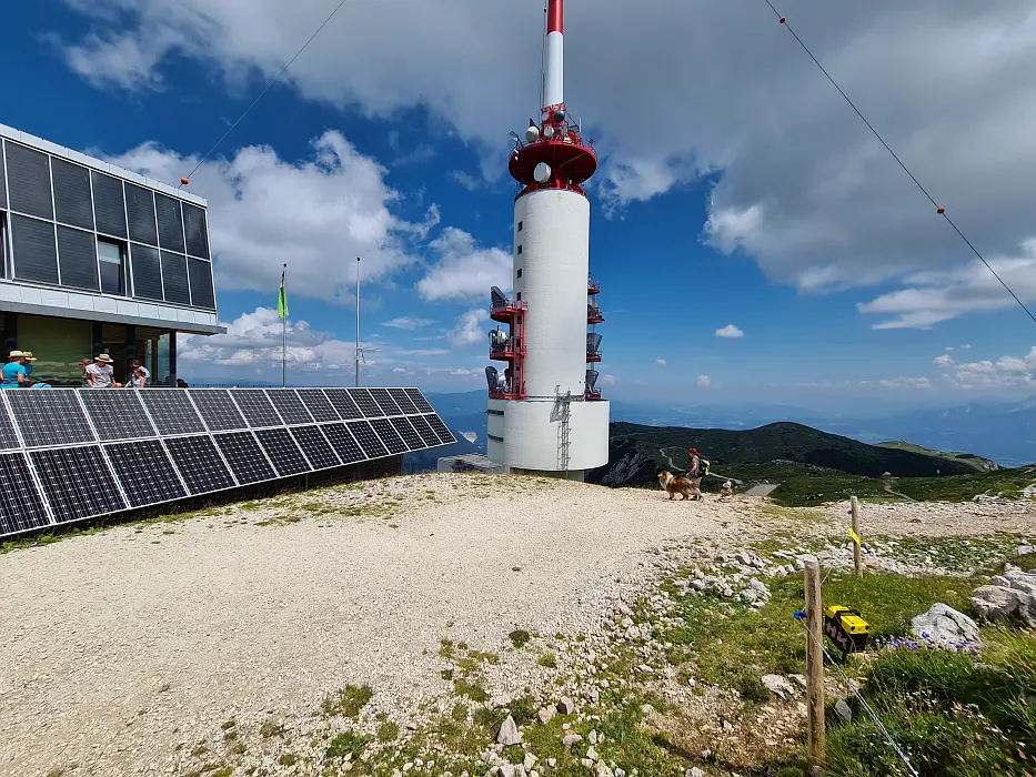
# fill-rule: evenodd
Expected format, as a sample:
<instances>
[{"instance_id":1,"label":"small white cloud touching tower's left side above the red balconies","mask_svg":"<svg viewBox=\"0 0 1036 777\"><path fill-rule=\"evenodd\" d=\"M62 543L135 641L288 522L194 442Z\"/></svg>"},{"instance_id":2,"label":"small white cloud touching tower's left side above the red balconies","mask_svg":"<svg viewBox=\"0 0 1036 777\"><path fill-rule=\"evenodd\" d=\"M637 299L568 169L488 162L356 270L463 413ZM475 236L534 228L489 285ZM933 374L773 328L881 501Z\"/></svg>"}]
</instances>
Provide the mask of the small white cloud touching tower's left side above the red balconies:
<instances>
[{"instance_id":1,"label":"small white cloud touching tower's left side above the red balconies","mask_svg":"<svg viewBox=\"0 0 1036 777\"><path fill-rule=\"evenodd\" d=\"M447 226L432 241L437 261L418 282L425 300L485 297L490 286L511 290L511 254L500 249L482 249L462 230Z\"/></svg>"}]
</instances>

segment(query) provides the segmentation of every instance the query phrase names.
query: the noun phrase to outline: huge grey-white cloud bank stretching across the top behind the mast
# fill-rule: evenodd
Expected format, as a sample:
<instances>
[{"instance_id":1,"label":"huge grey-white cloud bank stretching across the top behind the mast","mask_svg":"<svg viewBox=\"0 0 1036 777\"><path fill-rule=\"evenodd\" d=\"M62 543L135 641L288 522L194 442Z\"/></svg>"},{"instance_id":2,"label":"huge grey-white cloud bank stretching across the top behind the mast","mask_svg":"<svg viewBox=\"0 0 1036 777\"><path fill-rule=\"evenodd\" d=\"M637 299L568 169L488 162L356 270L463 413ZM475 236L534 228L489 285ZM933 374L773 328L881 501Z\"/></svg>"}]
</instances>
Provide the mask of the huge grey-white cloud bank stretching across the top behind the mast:
<instances>
[{"instance_id":1,"label":"huge grey-white cloud bank stretching across the top behind the mast","mask_svg":"<svg viewBox=\"0 0 1036 777\"><path fill-rule=\"evenodd\" d=\"M259 88L247 77L272 78L328 12L324 0L66 3L105 30L64 43L69 65L91 82L162 88L167 69L187 58L245 95ZM882 0L818 14L799 0L787 13L976 245L1007 255L1030 234L1030 3ZM566 99L597 141L597 180L613 206L708 172L704 239L748 252L772 281L814 292L887 282L962 255L765 4L642 0L631 24L627 2L599 0L572 3L569 16ZM406 13L393 2L350 3L284 82L372 115L426 107L472 143L484 173L500 175L504 133L539 108L541 36L540 14L516 0L411 0ZM945 320L942 305L922 303L891 311L891 321Z\"/></svg>"}]
</instances>

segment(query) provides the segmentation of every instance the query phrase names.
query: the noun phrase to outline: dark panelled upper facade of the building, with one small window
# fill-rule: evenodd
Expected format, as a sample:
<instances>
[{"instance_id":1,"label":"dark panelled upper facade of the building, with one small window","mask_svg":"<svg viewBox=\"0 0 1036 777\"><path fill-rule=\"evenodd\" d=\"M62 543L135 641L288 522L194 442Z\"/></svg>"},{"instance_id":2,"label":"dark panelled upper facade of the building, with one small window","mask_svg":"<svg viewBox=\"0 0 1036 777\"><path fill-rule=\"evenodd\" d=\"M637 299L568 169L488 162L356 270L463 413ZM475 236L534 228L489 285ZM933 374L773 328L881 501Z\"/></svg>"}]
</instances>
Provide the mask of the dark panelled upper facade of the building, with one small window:
<instances>
[{"instance_id":1,"label":"dark panelled upper facade of the building, with one small window","mask_svg":"<svg viewBox=\"0 0 1036 777\"><path fill-rule=\"evenodd\" d=\"M0 278L215 311L205 209L2 139Z\"/></svg>"}]
</instances>

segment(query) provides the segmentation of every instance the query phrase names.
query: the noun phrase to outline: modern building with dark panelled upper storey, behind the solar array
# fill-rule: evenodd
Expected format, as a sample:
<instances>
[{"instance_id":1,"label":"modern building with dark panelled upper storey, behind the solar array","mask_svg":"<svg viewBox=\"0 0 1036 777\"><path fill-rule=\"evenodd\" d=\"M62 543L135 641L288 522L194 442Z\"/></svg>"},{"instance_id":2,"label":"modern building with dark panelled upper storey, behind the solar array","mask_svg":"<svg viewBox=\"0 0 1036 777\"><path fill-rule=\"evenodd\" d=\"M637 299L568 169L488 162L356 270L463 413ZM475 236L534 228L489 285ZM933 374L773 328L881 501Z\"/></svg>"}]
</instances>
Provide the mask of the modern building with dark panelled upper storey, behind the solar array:
<instances>
[{"instance_id":1,"label":"modern building with dark panelled upper storey, behind the solar array","mask_svg":"<svg viewBox=\"0 0 1036 777\"><path fill-rule=\"evenodd\" d=\"M0 310L4 355L33 379L79 385L107 352L177 380L177 336L218 324L205 201L0 124Z\"/></svg>"}]
</instances>

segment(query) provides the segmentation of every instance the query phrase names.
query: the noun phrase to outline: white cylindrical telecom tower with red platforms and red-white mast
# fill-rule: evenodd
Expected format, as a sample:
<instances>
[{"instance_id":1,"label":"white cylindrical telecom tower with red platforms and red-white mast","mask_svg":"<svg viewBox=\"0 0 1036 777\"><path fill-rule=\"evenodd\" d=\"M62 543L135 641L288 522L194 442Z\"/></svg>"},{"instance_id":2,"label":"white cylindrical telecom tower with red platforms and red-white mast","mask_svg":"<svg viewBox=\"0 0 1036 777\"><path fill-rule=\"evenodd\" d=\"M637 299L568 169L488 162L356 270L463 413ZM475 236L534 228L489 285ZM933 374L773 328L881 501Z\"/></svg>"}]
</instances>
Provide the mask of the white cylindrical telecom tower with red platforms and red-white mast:
<instances>
[{"instance_id":1,"label":"white cylindrical telecom tower with red platforms and red-white mast","mask_svg":"<svg viewBox=\"0 0 1036 777\"><path fill-rule=\"evenodd\" d=\"M540 123L511 153L522 190L514 199L514 296L492 290L486 367L489 457L510 471L583 480L607 463L608 403L593 364L604 317L590 281L590 200L597 169L564 99L564 0L549 0Z\"/></svg>"}]
</instances>

